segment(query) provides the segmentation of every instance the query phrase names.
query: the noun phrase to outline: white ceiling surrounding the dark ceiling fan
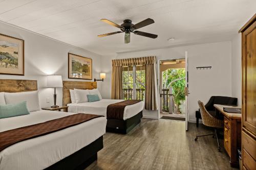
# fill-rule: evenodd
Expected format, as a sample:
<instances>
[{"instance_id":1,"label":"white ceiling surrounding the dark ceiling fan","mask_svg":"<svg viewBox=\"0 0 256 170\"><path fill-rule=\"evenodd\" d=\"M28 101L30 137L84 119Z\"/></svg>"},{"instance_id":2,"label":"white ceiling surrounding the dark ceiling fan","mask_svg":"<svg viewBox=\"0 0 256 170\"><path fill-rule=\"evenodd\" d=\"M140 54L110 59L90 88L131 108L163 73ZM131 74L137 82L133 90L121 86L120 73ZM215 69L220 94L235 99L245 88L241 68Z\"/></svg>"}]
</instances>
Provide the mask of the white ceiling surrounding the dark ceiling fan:
<instances>
[{"instance_id":1,"label":"white ceiling surrounding the dark ceiling fan","mask_svg":"<svg viewBox=\"0 0 256 170\"><path fill-rule=\"evenodd\" d=\"M255 0L0 0L0 20L101 55L231 40L255 12ZM97 37L119 31L101 18L121 24L149 17L155 23L139 31L157 39Z\"/></svg>"}]
</instances>

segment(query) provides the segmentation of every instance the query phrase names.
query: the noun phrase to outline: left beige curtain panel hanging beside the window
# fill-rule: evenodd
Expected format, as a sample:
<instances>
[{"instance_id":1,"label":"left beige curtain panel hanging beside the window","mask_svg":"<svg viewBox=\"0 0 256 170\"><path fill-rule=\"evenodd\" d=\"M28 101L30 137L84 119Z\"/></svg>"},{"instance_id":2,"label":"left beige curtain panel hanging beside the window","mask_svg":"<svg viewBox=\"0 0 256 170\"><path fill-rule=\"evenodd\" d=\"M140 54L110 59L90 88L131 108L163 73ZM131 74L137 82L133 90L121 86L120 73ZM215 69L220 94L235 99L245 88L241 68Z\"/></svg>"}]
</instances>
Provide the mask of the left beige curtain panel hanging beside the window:
<instances>
[{"instance_id":1,"label":"left beige curtain panel hanging beside the window","mask_svg":"<svg viewBox=\"0 0 256 170\"><path fill-rule=\"evenodd\" d=\"M111 99L123 99L122 66L113 66Z\"/></svg>"}]
</instances>

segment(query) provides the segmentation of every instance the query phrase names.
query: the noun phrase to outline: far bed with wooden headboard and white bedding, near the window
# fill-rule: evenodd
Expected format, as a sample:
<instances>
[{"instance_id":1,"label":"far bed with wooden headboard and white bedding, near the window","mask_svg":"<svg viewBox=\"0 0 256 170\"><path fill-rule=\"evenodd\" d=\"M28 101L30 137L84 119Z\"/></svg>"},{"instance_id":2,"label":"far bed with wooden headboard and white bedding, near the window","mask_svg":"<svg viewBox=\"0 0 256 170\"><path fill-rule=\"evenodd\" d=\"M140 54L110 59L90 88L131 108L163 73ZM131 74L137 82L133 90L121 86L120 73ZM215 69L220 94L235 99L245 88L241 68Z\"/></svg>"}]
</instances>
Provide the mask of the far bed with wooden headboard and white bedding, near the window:
<instances>
[{"instance_id":1,"label":"far bed with wooden headboard and white bedding, near the window","mask_svg":"<svg viewBox=\"0 0 256 170\"><path fill-rule=\"evenodd\" d=\"M97 94L99 100L89 102L87 95ZM97 82L63 81L62 104L69 106L69 111L74 113L91 113L106 116L108 106L121 103L124 100L102 99ZM106 131L126 134L140 123L144 102L127 105L123 110L122 119L106 116ZM113 112L114 114L114 112Z\"/></svg>"}]
</instances>

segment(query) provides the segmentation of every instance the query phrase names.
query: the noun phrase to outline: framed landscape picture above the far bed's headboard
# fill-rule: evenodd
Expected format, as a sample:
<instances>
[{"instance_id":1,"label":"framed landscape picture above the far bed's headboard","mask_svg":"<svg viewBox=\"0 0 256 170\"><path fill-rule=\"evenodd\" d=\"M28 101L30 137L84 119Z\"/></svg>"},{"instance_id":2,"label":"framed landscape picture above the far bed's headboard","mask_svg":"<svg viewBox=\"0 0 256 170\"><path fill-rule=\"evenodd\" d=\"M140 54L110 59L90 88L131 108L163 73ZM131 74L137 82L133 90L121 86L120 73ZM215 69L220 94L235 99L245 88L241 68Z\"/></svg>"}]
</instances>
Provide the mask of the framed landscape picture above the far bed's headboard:
<instances>
[{"instance_id":1,"label":"framed landscape picture above the far bed's headboard","mask_svg":"<svg viewBox=\"0 0 256 170\"><path fill-rule=\"evenodd\" d=\"M90 58L69 53L69 79L92 80L92 64Z\"/></svg>"}]
</instances>

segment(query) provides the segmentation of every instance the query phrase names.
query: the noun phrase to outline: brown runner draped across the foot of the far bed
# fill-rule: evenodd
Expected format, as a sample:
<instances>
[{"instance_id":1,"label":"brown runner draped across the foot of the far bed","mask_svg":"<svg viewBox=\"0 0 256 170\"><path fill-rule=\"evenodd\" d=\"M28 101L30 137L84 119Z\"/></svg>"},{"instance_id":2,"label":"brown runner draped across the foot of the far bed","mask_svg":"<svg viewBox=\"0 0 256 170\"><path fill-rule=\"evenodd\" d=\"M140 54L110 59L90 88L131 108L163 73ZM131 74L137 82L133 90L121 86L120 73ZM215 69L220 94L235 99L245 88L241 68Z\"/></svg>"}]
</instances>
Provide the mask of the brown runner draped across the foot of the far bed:
<instances>
[{"instance_id":1,"label":"brown runner draped across the foot of the far bed","mask_svg":"<svg viewBox=\"0 0 256 170\"><path fill-rule=\"evenodd\" d=\"M124 112L125 106L133 105L139 102L140 100L126 100L126 101L111 104L106 108L106 117L123 120L123 112Z\"/></svg>"}]
</instances>

